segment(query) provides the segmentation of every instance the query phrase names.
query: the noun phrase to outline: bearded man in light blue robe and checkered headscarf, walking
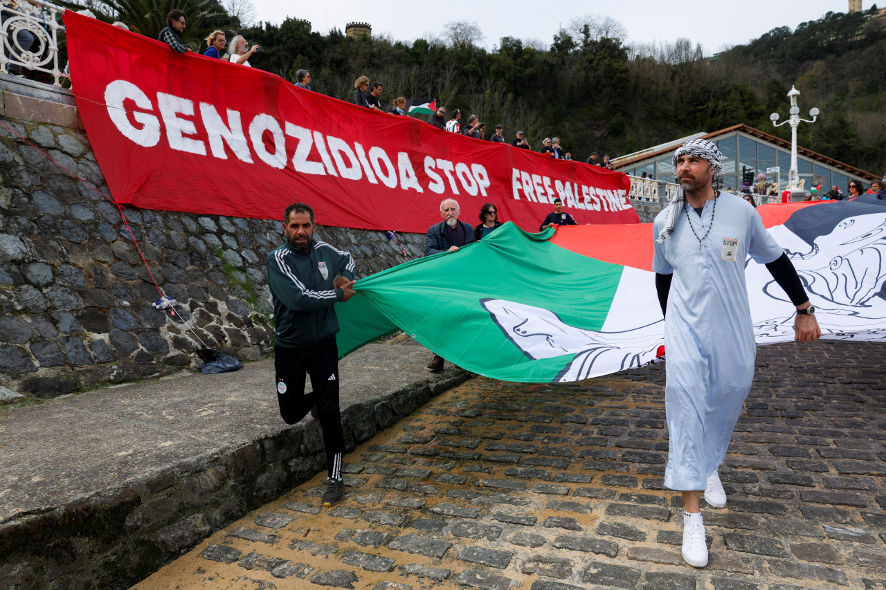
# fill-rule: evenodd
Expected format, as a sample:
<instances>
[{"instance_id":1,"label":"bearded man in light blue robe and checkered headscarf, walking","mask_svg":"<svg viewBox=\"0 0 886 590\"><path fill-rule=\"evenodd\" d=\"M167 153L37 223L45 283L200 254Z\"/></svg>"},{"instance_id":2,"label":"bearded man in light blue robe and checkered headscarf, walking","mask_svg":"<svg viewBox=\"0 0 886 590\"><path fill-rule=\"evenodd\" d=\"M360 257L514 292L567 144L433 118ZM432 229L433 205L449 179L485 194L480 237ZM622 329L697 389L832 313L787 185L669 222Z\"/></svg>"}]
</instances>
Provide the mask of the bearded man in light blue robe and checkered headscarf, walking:
<instances>
[{"instance_id":1,"label":"bearded man in light blue robe and checkered headscarf, walking","mask_svg":"<svg viewBox=\"0 0 886 590\"><path fill-rule=\"evenodd\" d=\"M754 377L757 345L744 267L766 264L797 307L795 338L820 338L797 271L753 206L713 188L722 172L717 146L690 140L674 152L677 198L656 217L652 269L664 313L670 448L664 485L683 492L683 558L708 562L700 491L726 506L717 470Z\"/></svg>"}]
</instances>

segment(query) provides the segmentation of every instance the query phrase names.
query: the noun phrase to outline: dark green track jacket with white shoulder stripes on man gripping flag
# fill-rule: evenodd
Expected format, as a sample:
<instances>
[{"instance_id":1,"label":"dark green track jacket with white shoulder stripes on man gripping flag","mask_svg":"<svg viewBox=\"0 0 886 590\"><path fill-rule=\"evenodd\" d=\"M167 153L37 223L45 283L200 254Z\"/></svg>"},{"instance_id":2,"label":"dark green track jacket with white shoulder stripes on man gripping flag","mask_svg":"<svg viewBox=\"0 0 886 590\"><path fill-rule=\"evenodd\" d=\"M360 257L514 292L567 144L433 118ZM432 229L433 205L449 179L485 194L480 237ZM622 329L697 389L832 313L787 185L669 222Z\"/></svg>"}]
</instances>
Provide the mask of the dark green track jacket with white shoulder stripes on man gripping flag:
<instances>
[{"instance_id":1,"label":"dark green track jacket with white shoulder stripes on man gripping flag","mask_svg":"<svg viewBox=\"0 0 886 590\"><path fill-rule=\"evenodd\" d=\"M312 242L302 252L286 240L268 253L277 346L315 345L338 332L332 306L345 297L345 291L332 289L338 274L353 279L354 259L325 242Z\"/></svg>"}]
</instances>

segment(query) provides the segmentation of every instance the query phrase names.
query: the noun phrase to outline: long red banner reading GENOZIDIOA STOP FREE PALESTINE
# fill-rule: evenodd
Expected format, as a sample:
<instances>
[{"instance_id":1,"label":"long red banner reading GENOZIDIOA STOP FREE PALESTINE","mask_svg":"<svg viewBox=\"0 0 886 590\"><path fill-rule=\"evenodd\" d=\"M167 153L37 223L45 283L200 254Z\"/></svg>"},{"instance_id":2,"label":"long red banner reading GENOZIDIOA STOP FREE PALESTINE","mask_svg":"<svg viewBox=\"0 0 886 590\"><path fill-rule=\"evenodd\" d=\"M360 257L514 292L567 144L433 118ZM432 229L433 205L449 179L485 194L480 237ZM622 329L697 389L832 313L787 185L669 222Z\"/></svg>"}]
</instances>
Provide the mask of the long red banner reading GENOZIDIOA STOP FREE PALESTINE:
<instances>
[{"instance_id":1,"label":"long red banner reading GENOZIDIOA STOP FREE PALESTINE","mask_svg":"<svg viewBox=\"0 0 886 590\"><path fill-rule=\"evenodd\" d=\"M579 223L636 223L627 176L448 133L65 13L74 96L113 197L144 209L424 232L455 198L536 231L554 198ZM101 43L97 43L101 40Z\"/></svg>"}]
</instances>

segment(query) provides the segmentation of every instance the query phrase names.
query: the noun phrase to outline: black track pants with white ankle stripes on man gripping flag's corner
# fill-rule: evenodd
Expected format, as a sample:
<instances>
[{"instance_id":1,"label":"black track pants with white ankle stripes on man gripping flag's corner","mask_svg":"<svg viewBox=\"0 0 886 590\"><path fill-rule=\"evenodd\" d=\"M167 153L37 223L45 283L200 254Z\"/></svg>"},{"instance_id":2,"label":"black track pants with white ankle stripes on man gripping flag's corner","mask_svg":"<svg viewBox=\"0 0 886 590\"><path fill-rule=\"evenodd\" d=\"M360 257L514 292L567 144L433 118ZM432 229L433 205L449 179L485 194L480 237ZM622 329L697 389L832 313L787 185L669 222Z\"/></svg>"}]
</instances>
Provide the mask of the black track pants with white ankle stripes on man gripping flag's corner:
<instances>
[{"instance_id":1,"label":"black track pants with white ankle stripes on man gripping flag's corner","mask_svg":"<svg viewBox=\"0 0 886 590\"><path fill-rule=\"evenodd\" d=\"M299 348L275 346L274 369L277 402L285 423L297 423L311 408L317 407L329 477L332 477L336 455L345 451L338 409L338 346L335 338ZM310 393L305 393L306 374L311 377L314 390ZM338 461L340 469L340 458Z\"/></svg>"}]
</instances>

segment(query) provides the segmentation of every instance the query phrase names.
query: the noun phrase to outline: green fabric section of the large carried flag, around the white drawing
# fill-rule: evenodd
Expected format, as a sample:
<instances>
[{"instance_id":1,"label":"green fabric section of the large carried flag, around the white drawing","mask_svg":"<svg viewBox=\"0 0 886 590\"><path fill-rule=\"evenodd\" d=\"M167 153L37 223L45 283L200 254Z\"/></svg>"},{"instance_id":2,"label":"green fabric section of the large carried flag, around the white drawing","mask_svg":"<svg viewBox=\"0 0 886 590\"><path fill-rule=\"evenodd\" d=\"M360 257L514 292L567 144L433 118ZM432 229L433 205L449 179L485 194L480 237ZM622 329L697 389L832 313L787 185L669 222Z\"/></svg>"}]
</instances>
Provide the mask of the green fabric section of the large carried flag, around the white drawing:
<instances>
[{"instance_id":1,"label":"green fabric section of the large carried flag, around the white drawing","mask_svg":"<svg viewBox=\"0 0 886 590\"><path fill-rule=\"evenodd\" d=\"M622 269L551 244L554 229L531 234L513 223L459 252L411 260L357 282L336 304L340 356L398 328L463 369L506 381L549 383L573 353L532 360L481 300L503 299L554 312L582 330L601 330Z\"/></svg>"}]
</instances>

